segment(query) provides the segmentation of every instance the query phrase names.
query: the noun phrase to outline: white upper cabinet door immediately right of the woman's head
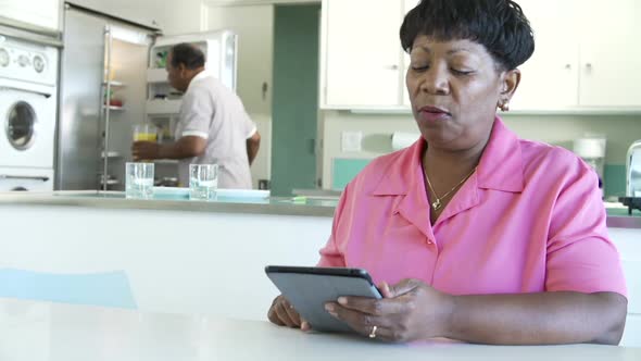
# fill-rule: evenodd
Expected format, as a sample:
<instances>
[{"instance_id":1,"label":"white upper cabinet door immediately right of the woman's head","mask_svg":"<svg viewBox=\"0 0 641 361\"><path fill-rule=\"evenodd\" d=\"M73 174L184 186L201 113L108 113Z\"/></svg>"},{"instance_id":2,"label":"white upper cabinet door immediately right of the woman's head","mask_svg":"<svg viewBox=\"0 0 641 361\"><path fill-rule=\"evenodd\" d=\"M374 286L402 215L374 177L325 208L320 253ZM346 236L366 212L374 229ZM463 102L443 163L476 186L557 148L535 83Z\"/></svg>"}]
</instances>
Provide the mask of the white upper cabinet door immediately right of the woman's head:
<instances>
[{"instance_id":1,"label":"white upper cabinet door immediately right of the woman's head","mask_svg":"<svg viewBox=\"0 0 641 361\"><path fill-rule=\"evenodd\" d=\"M520 0L535 33L535 53L521 66L513 110L567 109L578 104L579 46L575 0Z\"/></svg>"}]
</instances>

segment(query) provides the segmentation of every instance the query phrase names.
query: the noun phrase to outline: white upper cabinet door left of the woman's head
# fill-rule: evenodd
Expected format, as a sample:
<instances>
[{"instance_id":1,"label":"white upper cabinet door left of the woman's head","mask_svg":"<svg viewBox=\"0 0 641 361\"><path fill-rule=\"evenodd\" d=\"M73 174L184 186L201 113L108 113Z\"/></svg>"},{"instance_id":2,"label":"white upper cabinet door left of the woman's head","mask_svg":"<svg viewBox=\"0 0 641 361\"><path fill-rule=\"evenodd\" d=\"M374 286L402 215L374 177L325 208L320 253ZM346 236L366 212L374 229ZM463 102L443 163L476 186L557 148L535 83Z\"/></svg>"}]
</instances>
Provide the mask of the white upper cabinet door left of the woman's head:
<instances>
[{"instance_id":1,"label":"white upper cabinet door left of the woman's head","mask_svg":"<svg viewBox=\"0 0 641 361\"><path fill-rule=\"evenodd\" d=\"M398 105L400 2L327 0L323 5L327 105Z\"/></svg>"}]
</instances>

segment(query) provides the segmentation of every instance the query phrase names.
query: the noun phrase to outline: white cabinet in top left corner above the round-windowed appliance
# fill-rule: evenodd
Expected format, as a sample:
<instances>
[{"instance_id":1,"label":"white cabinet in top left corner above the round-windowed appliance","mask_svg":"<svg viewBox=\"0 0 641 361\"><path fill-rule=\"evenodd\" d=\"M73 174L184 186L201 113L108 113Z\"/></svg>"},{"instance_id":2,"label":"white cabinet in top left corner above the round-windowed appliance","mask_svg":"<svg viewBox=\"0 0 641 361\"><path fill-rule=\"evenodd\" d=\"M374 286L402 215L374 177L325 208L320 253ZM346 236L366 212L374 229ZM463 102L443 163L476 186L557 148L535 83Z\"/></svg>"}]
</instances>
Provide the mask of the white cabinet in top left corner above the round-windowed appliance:
<instances>
[{"instance_id":1,"label":"white cabinet in top left corner above the round-windowed appliance","mask_svg":"<svg viewBox=\"0 0 641 361\"><path fill-rule=\"evenodd\" d=\"M60 30L60 0L3 0L0 16L48 30Z\"/></svg>"}]
</instances>

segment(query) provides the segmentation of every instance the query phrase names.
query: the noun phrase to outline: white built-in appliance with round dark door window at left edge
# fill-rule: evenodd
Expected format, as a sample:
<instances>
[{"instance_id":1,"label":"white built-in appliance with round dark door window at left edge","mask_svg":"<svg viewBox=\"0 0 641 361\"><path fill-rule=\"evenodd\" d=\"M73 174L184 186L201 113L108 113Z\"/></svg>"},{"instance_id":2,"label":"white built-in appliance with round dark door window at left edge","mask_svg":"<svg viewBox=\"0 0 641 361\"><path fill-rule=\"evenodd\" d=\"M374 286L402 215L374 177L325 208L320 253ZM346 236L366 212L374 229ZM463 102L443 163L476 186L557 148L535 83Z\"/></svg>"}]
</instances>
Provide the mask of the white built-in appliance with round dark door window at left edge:
<instances>
[{"instance_id":1,"label":"white built-in appliance with round dark door window at left edge","mask_svg":"<svg viewBox=\"0 0 641 361\"><path fill-rule=\"evenodd\" d=\"M52 190L58 48L0 36L0 191Z\"/></svg>"}]
</instances>

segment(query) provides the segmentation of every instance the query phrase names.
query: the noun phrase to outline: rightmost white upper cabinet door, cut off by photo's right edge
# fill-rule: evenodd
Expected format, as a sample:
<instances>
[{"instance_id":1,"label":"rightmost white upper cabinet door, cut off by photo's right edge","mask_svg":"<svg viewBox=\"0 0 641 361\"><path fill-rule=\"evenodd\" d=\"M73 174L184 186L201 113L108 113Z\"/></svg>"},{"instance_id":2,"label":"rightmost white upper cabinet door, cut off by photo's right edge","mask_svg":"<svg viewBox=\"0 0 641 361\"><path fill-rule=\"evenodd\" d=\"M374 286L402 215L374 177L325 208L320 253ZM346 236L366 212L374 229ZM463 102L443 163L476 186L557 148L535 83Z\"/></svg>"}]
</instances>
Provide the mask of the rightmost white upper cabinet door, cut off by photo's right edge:
<instances>
[{"instance_id":1,"label":"rightmost white upper cabinet door, cut off by photo's right edge","mask_svg":"<svg viewBox=\"0 0 641 361\"><path fill-rule=\"evenodd\" d=\"M641 2L581 1L580 104L641 105Z\"/></svg>"}]
</instances>

